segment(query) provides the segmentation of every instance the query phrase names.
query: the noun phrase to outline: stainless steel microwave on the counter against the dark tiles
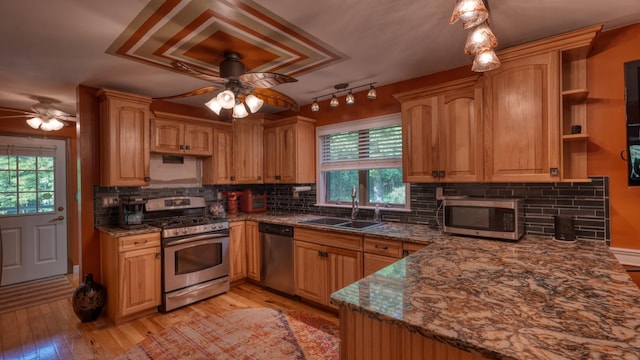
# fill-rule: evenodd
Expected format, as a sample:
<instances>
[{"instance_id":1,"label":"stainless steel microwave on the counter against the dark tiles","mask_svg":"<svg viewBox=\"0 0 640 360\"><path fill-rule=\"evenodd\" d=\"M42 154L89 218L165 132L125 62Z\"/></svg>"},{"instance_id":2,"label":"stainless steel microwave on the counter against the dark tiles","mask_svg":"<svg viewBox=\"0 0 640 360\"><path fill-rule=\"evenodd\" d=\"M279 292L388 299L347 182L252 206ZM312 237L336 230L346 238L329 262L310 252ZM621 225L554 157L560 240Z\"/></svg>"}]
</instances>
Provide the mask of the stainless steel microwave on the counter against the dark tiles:
<instances>
[{"instance_id":1,"label":"stainless steel microwave on the counter against the dark tiles","mask_svg":"<svg viewBox=\"0 0 640 360\"><path fill-rule=\"evenodd\" d=\"M446 233L504 240L524 234L523 199L444 199Z\"/></svg>"}]
</instances>

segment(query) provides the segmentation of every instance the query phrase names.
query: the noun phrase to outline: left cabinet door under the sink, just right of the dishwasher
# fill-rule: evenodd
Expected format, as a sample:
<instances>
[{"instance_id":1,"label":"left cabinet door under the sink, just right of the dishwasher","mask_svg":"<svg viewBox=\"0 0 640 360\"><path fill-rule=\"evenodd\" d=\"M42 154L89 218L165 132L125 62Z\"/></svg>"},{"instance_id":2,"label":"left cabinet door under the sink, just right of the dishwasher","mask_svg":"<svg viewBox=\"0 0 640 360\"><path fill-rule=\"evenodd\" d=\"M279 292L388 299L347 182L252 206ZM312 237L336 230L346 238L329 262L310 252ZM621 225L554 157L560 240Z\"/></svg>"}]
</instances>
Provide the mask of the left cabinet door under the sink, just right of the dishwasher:
<instances>
[{"instance_id":1,"label":"left cabinet door under the sink, just right of the dishwasher","mask_svg":"<svg viewBox=\"0 0 640 360\"><path fill-rule=\"evenodd\" d=\"M294 241L295 293L319 304L327 303L327 255L325 247Z\"/></svg>"}]
</instances>

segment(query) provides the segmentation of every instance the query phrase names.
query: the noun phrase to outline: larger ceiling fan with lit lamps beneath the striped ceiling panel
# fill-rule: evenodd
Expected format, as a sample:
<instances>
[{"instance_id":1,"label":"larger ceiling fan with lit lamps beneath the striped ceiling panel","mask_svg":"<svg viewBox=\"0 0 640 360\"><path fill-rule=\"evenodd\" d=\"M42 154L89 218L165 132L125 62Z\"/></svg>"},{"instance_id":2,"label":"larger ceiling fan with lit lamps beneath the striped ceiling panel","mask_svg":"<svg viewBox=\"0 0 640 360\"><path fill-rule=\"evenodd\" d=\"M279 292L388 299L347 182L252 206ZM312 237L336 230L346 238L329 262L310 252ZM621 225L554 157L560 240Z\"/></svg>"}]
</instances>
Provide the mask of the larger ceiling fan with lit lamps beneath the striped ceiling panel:
<instances>
[{"instance_id":1,"label":"larger ceiling fan with lit lamps beneath the striped ceiling panel","mask_svg":"<svg viewBox=\"0 0 640 360\"><path fill-rule=\"evenodd\" d=\"M180 61L174 61L171 65L186 74L210 81L213 85L184 94L157 97L154 98L155 100L177 99L218 92L218 95L206 104L207 107L221 117L228 117L229 110L232 109L234 118L247 116L247 109L255 113L263 103L293 111L300 109L298 103L291 97L270 89L279 84L296 82L297 79L272 72L245 72L245 66L240 61L240 55L236 52L226 51L224 53L224 59L220 62L219 77Z\"/></svg>"}]
</instances>

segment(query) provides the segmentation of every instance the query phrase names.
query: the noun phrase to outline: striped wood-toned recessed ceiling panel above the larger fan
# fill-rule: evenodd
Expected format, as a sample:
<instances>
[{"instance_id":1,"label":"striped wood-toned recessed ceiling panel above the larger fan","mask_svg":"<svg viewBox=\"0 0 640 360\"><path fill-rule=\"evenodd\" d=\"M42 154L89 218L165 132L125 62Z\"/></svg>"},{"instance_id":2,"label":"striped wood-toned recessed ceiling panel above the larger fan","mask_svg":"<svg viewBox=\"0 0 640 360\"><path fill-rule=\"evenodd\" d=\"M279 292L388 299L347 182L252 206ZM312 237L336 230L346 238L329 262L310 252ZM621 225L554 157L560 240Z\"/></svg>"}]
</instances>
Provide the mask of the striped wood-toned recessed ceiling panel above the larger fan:
<instances>
[{"instance_id":1,"label":"striped wood-toned recessed ceiling panel above the larger fan","mask_svg":"<svg viewBox=\"0 0 640 360\"><path fill-rule=\"evenodd\" d=\"M247 71L300 76L343 61L337 50L252 1L153 0L107 53L175 69L180 61L219 75L225 51Z\"/></svg>"}]
</instances>

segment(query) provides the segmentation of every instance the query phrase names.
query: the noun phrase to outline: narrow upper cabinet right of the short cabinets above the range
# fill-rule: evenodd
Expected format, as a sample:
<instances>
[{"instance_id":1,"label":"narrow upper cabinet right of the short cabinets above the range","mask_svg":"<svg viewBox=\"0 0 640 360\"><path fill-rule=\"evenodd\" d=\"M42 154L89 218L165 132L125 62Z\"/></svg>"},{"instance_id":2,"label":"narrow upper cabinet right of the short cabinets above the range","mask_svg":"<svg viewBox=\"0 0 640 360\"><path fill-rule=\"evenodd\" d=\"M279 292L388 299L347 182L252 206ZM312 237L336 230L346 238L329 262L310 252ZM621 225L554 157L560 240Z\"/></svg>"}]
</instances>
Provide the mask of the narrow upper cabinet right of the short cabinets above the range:
<instances>
[{"instance_id":1,"label":"narrow upper cabinet right of the short cabinets above the range","mask_svg":"<svg viewBox=\"0 0 640 360\"><path fill-rule=\"evenodd\" d=\"M233 128L231 124L213 125L213 155L202 160L202 183L222 185L233 183Z\"/></svg>"}]
</instances>

